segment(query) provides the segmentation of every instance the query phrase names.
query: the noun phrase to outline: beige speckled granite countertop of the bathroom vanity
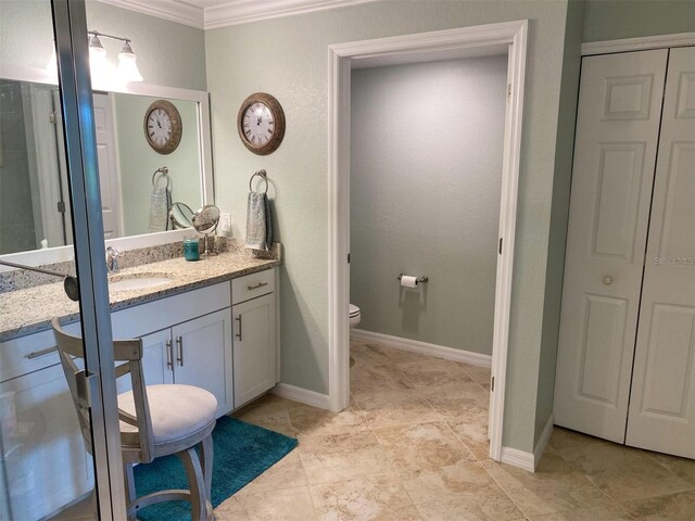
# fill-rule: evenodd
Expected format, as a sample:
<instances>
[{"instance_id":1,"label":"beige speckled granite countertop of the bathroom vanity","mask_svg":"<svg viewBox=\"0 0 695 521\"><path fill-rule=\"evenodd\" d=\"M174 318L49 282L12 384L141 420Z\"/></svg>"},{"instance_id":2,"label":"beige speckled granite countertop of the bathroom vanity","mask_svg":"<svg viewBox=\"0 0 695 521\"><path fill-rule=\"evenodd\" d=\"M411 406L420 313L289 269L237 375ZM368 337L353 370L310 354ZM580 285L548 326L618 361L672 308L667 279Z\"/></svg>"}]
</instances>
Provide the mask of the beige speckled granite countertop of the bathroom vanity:
<instances>
[{"instance_id":1,"label":"beige speckled granite countertop of the bathroom vanity","mask_svg":"<svg viewBox=\"0 0 695 521\"><path fill-rule=\"evenodd\" d=\"M182 257L143 264L110 276L110 279L166 277L172 282L137 290L109 292L112 312L214 284L278 266L279 258L254 258L225 252L195 263ZM0 342L50 328L53 317L71 321L79 318L79 306L65 295L63 282L36 285L0 295Z\"/></svg>"}]
</instances>

